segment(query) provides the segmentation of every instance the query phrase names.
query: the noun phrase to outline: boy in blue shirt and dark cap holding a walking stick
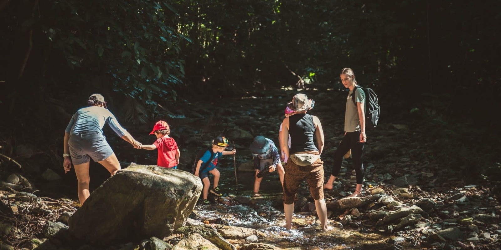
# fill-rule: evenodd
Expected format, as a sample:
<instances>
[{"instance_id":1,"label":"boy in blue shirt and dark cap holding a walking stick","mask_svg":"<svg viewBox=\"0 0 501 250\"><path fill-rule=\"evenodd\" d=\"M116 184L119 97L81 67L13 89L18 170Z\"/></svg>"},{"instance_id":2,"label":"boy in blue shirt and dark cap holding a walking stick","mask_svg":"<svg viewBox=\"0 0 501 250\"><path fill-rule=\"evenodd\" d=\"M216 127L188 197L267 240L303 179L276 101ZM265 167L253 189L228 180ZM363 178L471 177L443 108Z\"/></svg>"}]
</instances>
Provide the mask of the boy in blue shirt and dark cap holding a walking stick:
<instances>
[{"instance_id":1,"label":"boy in blue shirt and dark cap holding a walking stick","mask_svg":"<svg viewBox=\"0 0 501 250\"><path fill-rule=\"evenodd\" d=\"M207 149L207 151L205 151L203 156L196 163L195 176L199 176L203 182L202 195L204 204L210 204L210 201L207 199L210 185L209 173L212 173L214 175L214 185L210 189L210 192L217 196L222 195L219 187L217 186L217 184L219 183L219 170L216 169L216 165L217 160L221 155L235 154L236 150L234 148L231 151L224 151L224 149L229 149L228 146L228 139L222 136L216 137L212 141L212 148ZM210 162L208 162L208 164L205 164L207 163L207 161ZM202 164L204 167L201 167Z\"/></svg>"}]
</instances>

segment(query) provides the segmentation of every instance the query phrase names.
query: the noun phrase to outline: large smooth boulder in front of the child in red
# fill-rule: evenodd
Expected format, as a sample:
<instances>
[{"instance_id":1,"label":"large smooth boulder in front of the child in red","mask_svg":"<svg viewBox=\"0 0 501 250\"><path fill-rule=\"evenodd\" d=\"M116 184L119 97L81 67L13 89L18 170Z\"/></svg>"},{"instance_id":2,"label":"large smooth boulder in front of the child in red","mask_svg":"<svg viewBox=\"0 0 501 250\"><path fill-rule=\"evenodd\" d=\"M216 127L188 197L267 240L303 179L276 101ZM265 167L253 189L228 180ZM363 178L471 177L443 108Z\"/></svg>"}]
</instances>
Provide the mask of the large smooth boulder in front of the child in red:
<instances>
[{"instance_id":1,"label":"large smooth boulder in front of the child in red","mask_svg":"<svg viewBox=\"0 0 501 250\"><path fill-rule=\"evenodd\" d=\"M70 233L90 244L168 236L193 210L202 182L195 175L131 163L99 186L70 218Z\"/></svg>"}]
</instances>

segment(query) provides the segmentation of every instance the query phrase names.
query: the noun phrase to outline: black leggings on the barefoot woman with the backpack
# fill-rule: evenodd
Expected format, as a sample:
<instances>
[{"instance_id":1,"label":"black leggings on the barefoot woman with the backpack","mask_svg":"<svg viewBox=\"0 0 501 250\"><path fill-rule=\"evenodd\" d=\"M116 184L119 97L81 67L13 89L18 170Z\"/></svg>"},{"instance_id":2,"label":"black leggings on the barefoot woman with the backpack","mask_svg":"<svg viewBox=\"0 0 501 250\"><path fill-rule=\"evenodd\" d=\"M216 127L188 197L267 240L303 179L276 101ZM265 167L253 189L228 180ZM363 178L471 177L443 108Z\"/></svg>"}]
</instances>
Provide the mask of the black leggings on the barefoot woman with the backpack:
<instances>
[{"instance_id":1,"label":"black leggings on the barefoot woman with the backpack","mask_svg":"<svg viewBox=\"0 0 501 250\"><path fill-rule=\"evenodd\" d=\"M364 144L365 142L360 142L360 131L347 132L334 152L334 163L332 164L331 175L335 177L338 176L339 169L341 169L341 162L343 161L343 155L351 149L353 166L357 173L357 184L362 184L364 180L364 164L362 163Z\"/></svg>"}]
</instances>

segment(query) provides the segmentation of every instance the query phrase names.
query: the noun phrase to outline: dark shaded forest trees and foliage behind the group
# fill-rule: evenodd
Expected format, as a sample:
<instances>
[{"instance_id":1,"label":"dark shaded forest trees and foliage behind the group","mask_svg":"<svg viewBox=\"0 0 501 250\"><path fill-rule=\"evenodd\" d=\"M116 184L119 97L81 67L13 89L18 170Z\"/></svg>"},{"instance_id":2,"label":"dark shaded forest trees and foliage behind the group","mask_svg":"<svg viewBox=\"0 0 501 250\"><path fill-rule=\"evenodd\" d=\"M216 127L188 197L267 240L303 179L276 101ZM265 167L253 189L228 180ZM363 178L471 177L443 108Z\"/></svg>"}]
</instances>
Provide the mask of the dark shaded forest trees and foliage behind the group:
<instances>
[{"instance_id":1,"label":"dark shaded forest trees and foliage behind the group","mask_svg":"<svg viewBox=\"0 0 501 250\"><path fill-rule=\"evenodd\" d=\"M334 86L351 67L444 167L496 181L500 10L499 0L0 0L0 152L19 159L29 142L60 164L63 129L93 92L124 123L151 123L185 101Z\"/></svg>"}]
</instances>

